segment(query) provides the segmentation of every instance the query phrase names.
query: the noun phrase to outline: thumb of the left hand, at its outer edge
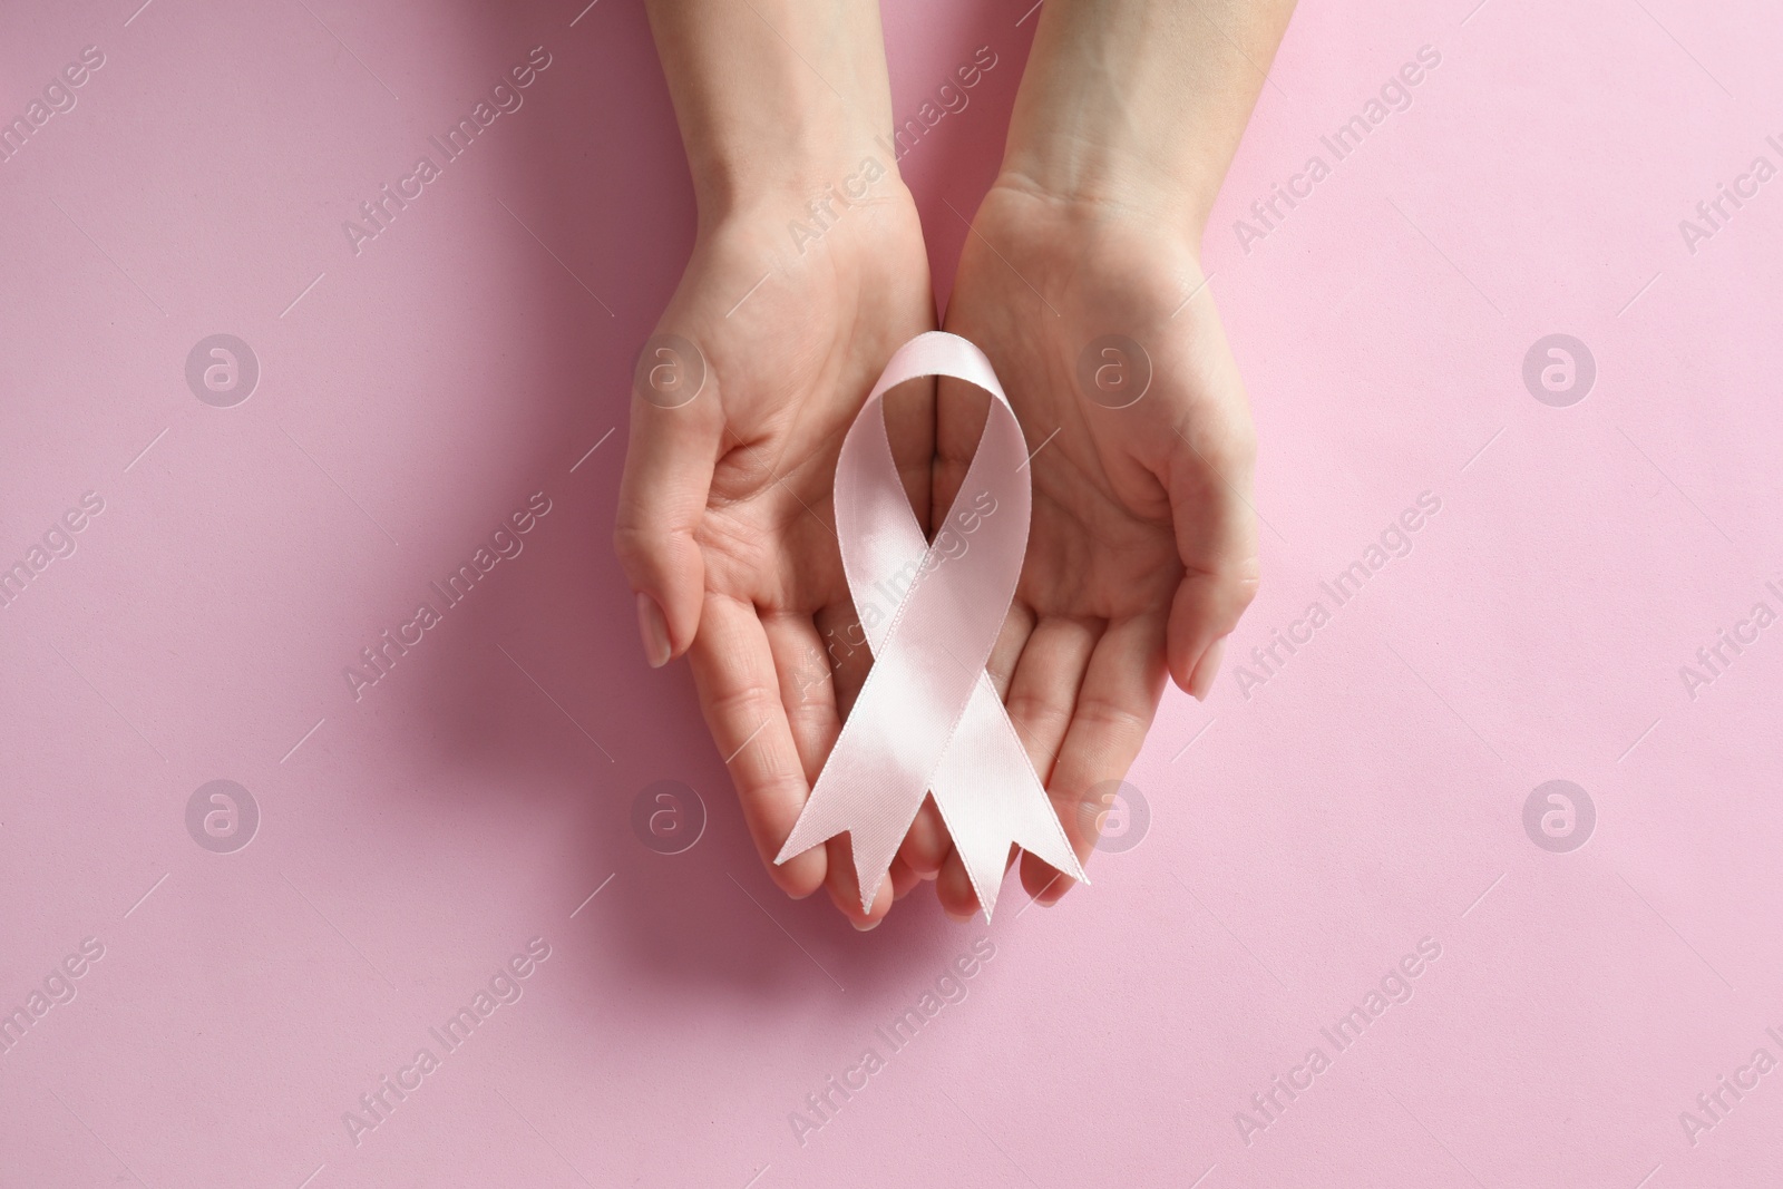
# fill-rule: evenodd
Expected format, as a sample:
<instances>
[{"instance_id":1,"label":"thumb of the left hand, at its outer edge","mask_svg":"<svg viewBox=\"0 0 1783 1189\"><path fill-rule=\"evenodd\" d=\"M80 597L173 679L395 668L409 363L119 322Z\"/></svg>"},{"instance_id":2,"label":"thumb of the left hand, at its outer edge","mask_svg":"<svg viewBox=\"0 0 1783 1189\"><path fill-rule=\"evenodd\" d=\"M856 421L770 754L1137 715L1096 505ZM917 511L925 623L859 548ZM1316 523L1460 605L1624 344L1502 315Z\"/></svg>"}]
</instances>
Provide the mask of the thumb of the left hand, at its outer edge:
<instances>
[{"instance_id":1,"label":"thumb of the left hand, at its outer edge","mask_svg":"<svg viewBox=\"0 0 1783 1189\"><path fill-rule=\"evenodd\" d=\"M674 408L665 406L669 398L631 396L613 551L638 595L638 633L653 667L685 652L699 627L706 565L695 533L724 428L715 389L717 376L706 376L699 394Z\"/></svg>"}]
</instances>

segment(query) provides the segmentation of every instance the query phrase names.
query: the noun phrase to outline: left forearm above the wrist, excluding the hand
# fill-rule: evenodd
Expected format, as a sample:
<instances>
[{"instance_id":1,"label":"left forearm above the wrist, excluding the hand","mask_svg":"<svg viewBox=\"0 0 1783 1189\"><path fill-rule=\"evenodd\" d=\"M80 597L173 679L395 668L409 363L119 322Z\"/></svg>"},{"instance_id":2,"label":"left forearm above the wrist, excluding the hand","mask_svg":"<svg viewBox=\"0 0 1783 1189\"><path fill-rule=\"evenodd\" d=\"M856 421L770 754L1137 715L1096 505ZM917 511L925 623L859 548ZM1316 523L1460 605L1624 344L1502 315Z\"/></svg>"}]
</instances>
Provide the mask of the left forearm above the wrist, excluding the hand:
<instances>
[{"instance_id":1,"label":"left forearm above the wrist, excluding the hand","mask_svg":"<svg viewBox=\"0 0 1783 1189\"><path fill-rule=\"evenodd\" d=\"M647 0L701 219L836 182L892 128L875 0Z\"/></svg>"}]
</instances>

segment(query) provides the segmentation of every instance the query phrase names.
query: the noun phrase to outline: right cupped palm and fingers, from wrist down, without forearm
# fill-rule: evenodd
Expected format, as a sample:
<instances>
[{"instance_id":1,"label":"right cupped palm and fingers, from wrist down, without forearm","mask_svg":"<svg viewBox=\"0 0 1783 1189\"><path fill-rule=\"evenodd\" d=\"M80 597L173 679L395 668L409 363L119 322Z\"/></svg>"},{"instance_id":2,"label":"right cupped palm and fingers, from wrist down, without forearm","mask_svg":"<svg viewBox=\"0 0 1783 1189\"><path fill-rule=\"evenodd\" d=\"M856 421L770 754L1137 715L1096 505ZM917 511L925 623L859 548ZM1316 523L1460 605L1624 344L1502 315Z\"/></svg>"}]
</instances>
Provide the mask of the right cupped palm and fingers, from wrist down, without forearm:
<instances>
[{"instance_id":1,"label":"right cupped palm and fingers, from wrist down, without forearm","mask_svg":"<svg viewBox=\"0 0 1783 1189\"><path fill-rule=\"evenodd\" d=\"M1139 203L1063 201L1007 173L974 219L947 330L990 357L1032 451L1027 558L990 674L1088 859L1166 674L1205 697L1257 590L1245 385L1189 228ZM936 522L986 399L938 389ZM945 845L913 832L900 857L940 866L943 907L968 914L977 900ZM1052 904L1073 881L1023 856L1022 882Z\"/></svg>"}]
</instances>

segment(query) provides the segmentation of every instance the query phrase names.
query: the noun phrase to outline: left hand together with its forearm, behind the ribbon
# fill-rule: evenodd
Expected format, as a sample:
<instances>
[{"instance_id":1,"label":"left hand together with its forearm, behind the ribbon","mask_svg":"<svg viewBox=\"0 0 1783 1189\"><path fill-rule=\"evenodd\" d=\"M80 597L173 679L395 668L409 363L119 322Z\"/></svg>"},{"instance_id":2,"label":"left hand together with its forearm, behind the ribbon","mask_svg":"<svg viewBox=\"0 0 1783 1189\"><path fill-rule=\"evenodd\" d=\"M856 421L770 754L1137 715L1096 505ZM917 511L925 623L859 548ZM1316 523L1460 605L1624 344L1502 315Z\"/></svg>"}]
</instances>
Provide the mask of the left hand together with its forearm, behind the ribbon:
<instances>
[{"instance_id":1,"label":"left hand together with its forearm, behind the ribbon","mask_svg":"<svg viewBox=\"0 0 1783 1189\"><path fill-rule=\"evenodd\" d=\"M647 9L699 235L633 381L615 544L645 656L686 652L694 665L768 873L793 897L827 886L856 927L872 927L916 882L909 868L893 868L863 914L845 840L785 866L774 856L868 663L834 537L836 453L892 353L934 328L922 226L881 148L892 94L879 9ZM933 385L886 403L924 512L933 405Z\"/></svg>"}]
</instances>

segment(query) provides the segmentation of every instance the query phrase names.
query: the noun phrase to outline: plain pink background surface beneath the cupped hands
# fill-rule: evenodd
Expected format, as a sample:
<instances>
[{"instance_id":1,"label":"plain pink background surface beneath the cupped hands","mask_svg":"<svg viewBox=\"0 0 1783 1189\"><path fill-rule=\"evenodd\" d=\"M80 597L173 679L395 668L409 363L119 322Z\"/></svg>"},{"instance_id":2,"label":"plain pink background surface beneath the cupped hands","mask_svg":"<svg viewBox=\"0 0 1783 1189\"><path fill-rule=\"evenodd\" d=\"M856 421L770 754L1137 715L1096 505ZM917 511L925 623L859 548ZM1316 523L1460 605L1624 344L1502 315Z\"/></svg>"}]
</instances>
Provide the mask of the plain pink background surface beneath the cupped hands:
<instances>
[{"instance_id":1,"label":"plain pink background surface beneath the cupped hands","mask_svg":"<svg viewBox=\"0 0 1783 1189\"><path fill-rule=\"evenodd\" d=\"M867 936L772 890L608 549L608 433L692 234L640 7L136 5L0 16L7 119L103 53L0 164L0 563L41 567L0 608L0 1184L1774 1180L1767 5L1302 7L1207 239L1268 522L1227 672L1166 697L1150 829L1093 888L991 929L924 893ZM888 7L900 118L998 55L904 160L945 292L1034 20ZM522 105L355 253L342 221L533 46ZM1749 196L1687 242L1717 184ZM259 360L244 403L187 383L212 333ZM1578 403L1524 387L1551 333L1596 362ZM355 699L485 545L519 553ZM218 779L246 849L187 829ZM1596 813L1567 852L1524 829L1557 779ZM681 854L633 832L654 781L710 813Z\"/></svg>"}]
</instances>

